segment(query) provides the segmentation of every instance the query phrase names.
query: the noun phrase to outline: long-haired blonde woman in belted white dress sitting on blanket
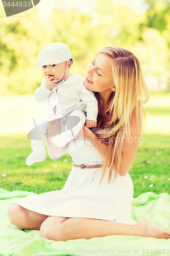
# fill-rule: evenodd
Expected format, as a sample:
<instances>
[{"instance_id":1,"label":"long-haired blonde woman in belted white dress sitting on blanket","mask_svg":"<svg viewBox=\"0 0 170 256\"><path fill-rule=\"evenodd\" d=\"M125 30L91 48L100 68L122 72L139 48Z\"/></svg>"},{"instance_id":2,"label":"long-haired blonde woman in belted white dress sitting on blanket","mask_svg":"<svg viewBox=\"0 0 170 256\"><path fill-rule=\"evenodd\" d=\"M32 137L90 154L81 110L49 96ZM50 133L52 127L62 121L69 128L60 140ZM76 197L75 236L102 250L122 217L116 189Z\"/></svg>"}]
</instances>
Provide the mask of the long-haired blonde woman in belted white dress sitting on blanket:
<instances>
[{"instance_id":1,"label":"long-haired blonde woman in belted white dress sitting on blanket","mask_svg":"<svg viewBox=\"0 0 170 256\"><path fill-rule=\"evenodd\" d=\"M40 230L55 241L89 239L113 234L170 238L170 230L147 219L132 220L133 183L128 174L141 135L149 99L138 59L128 50L106 47L87 70L84 86L98 100L98 126L83 126L82 135L57 147L48 134L53 159L66 147L74 161L64 188L31 195L12 203L8 217L21 229ZM57 120L56 120L57 122Z\"/></svg>"}]
</instances>

